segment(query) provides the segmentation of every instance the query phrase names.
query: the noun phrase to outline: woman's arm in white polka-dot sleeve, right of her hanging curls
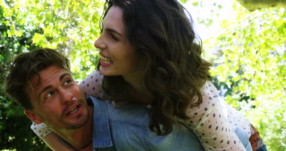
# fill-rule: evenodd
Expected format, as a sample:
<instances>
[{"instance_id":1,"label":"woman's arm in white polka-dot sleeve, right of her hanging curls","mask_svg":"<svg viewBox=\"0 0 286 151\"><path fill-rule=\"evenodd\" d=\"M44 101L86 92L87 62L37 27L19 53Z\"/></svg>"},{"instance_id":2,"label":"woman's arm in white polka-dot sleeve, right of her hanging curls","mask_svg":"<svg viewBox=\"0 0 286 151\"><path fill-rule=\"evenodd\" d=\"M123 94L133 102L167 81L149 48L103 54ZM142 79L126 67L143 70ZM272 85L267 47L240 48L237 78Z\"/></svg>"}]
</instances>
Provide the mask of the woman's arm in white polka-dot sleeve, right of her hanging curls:
<instances>
[{"instance_id":1,"label":"woman's arm in white polka-dot sleeve, right of her hanging curls","mask_svg":"<svg viewBox=\"0 0 286 151\"><path fill-rule=\"evenodd\" d=\"M198 136L205 151L246 151L223 113L216 88L207 82L202 95L203 103L190 106L186 113L190 120L182 122Z\"/></svg>"}]
</instances>

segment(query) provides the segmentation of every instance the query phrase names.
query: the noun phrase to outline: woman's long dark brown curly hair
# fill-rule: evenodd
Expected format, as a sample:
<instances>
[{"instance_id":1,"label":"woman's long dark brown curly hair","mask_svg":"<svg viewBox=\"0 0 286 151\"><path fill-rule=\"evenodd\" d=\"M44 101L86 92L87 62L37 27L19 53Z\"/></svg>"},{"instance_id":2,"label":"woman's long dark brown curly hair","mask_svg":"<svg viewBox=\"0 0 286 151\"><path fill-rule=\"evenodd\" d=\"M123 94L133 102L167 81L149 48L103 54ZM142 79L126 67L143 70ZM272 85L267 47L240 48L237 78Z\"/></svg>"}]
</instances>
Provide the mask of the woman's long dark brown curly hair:
<instances>
[{"instance_id":1,"label":"woman's long dark brown curly hair","mask_svg":"<svg viewBox=\"0 0 286 151\"><path fill-rule=\"evenodd\" d=\"M202 42L195 36L191 15L177 0L106 0L101 31L111 6L123 10L127 39L147 60L141 83L153 97L149 128L167 135L176 118L189 119L188 107L202 103L200 89L210 78L211 64L201 58ZM128 85L122 76L102 81L103 90L117 103L130 96ZM192 100L194 95L198 100Z\"/></svg>"}]
</instances>

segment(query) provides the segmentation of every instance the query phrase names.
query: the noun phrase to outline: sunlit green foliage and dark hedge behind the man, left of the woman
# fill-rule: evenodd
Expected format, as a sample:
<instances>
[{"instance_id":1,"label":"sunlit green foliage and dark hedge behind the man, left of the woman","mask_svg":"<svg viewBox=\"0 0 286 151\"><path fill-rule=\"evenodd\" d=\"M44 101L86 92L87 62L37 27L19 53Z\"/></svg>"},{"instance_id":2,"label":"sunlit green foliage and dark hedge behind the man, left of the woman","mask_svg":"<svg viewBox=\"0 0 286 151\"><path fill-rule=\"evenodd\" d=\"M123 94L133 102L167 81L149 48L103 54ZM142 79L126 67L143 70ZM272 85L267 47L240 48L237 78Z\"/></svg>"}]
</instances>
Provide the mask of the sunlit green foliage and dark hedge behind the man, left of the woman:
<instances>
[{"instance_id":1,"label":"sunlit green foliage and dark hedge behind the man, left of the woman","mask_svg":"<svg viewBox=\"0 0 286 151\"><path fill-rule=\"evenodd\" d=\"M69 56L80 81L95 70L93 43L100 34L104 0L0 0L0 78L13 58L35 47L57 48ZM41 6L41 7L39 7ZM49 150L30 130L23 109L8 98L0 83L0 150ZM19 124L21 123L21 124Z\"/></svg>"}]
</instances>

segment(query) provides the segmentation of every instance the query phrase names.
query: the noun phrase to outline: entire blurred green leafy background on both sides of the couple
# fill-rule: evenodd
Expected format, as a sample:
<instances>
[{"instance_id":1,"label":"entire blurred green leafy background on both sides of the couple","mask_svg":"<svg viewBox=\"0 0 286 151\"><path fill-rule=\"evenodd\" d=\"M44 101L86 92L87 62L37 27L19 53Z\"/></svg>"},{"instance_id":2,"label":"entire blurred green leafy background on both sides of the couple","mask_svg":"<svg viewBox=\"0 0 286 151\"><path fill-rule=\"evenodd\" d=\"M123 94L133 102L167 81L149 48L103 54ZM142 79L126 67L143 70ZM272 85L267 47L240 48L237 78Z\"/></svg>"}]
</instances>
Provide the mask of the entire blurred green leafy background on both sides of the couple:
<instances>
[{"instance_id":1,"label":"entire blurred green leafy background on both sides of the couple","mask_svg":"<svg viewBox=\"0 0 286 151\"><path fill-rule=\"evenodd\" d=\"M235 0L181 2L202 37L203 57L213 64L211 76L225 101L245 113L269 151L286 151L285 8L249 11ZM69 57L80 82L99 59L93 43L100 34L103 3L0 0L0 79L17 54L50 47ZM3 85L1 80L0 151L50 151L30 130L23 109L4 94Z\"/></svg>"}]
</instances>

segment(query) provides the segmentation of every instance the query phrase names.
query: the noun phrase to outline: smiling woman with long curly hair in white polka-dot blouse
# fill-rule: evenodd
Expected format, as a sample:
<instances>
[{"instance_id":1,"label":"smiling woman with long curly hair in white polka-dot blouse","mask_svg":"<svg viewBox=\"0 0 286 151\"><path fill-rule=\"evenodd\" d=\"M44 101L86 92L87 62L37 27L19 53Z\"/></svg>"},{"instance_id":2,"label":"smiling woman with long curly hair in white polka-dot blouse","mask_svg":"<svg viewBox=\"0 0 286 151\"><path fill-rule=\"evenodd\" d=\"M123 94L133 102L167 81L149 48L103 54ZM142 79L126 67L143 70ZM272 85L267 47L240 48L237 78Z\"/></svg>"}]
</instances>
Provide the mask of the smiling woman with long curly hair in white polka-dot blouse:
<instances>
[{"instance_id":1,"label":"smiling woman with long curly hair in white polka-dot blouse","mask_svg":"<svg viewBox=\"0 0 286 151\"><path fill-rule=\"evenodd\" d=\"M209 81L211 64L201 58L201 40L185 12L176 0L107 0L95 42L103 91L115 107L151 106L149 127L158 135L168 135L182 122L206 151L264 149L260 137L251 149L235 134L240 128L250 137L253 127L220 101ZM101 95L95 87L100 73L81 83L86 95Z\"/></svg>"}]
</instances>

